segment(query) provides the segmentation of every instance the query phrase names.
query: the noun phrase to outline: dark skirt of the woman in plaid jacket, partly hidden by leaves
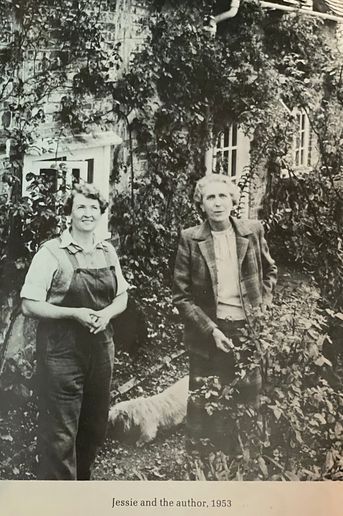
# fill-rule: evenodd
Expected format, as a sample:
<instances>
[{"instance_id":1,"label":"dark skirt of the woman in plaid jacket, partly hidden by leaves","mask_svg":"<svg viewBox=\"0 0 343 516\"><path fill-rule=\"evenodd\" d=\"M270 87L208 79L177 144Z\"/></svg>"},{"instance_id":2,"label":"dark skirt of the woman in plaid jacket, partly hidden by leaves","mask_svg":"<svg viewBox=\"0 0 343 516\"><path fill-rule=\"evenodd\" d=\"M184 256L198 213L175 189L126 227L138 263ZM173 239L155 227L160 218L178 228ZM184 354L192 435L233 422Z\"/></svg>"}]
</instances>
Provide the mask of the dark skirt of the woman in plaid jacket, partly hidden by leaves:
<instances>
[{"instance_id":1,"label":"dark skirt of the woman in plaid jacket, partly hidden by leaves","mask_svg":"<svg viewBox=\"0 0 343 516\"><path fill-rule=\"evenodd\" d=\"M232 339L235 346L240 345L241 336L239 328L245 325L245 321L218 320L219 329ZM241 360L248 363L249 352L241 353ZM207 455L210 451L222 450L227 455L236 454L240 450L236 421L231 412L227 410L214 410L208 414L205 405L208 401L216 401L212 396L206 399L199 393L192 391L201 389L204 385L201 377L216 376L222 388L230 386L235 379L235 357L232 351L225 353L213 343L209 350L209 357L205 358L191 353L189 357L189 398L186 419L186 450L191 453L197 450L201 455ZM258 394L262 385L259 368L254 370L249 380L240 382L230 400L231 408L237 404L244 404L251 408L258 405ZM225 401L225 400L224 400ZM226 401L225 401L226 402ZM227 403L227 402L226 402Z\"/></svg>"}]
</instances>

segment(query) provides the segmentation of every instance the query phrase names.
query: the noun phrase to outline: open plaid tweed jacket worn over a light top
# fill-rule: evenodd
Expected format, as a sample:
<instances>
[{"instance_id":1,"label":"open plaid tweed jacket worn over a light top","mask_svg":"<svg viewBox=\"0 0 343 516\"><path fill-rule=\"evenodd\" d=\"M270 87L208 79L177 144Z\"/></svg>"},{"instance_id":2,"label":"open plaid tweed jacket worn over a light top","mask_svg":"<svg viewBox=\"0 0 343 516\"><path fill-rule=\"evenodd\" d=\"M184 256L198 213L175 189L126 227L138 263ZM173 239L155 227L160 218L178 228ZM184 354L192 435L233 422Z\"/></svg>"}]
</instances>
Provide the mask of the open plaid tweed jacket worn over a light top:
<instances>
[{"instance_id":1,"label":"open plaid tweed jacket worn over a light top","mask_svg":"<svg viewBox=\"0 0 343 516\"><path fill-rule=\"evenodd\" d=\"M244 313L269 304L277 269L258 220L230 217L236 235L239 290ZM208 356L217 328L217 267L208 220L181 232L174 269L173 303L184 319L186 347Z\"/></svg>"}]
</instances>

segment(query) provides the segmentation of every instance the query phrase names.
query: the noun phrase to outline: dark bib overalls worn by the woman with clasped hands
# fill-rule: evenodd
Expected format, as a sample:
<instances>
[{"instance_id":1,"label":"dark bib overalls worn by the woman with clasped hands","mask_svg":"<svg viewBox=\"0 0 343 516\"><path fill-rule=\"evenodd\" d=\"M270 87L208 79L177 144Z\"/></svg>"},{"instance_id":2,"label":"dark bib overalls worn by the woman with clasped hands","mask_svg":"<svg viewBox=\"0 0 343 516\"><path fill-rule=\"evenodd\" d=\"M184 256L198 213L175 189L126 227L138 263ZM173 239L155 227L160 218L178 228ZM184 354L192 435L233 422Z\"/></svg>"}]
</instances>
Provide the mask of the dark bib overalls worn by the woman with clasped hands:
<instances>
[{"instance_id":1,"label":"dark bib overalls worn by the woman with clasped hands","mask_svg":"<svg viewBox=\"0 0 343 516\"><path fill-rule=\"evenodd\" d=\"M74 273L62 307L101 310L117 293L115 266ZM89 480L107 430L114 362L112 326L93 335L73 319L43 319L37 328L38 480Z\"/></svg>"}]
</instances>

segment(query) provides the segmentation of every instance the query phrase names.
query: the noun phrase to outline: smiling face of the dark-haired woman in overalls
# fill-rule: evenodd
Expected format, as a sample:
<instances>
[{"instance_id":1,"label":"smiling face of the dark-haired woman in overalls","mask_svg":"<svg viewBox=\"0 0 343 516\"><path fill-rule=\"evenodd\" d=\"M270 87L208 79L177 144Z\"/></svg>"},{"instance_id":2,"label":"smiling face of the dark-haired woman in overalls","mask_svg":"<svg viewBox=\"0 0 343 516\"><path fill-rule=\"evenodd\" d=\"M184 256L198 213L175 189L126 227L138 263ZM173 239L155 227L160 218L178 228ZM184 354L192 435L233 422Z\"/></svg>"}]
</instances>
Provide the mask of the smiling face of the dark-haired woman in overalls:
<instances>
[{"instance_id":1,"label":"smiling face of the dark-haired woman in overalls","mask_svg":"<svg viewBox=\"0 0 343 516\"><path fill-rule=\"evenodd\" d=\"M77 193L73 199L71 220L73 229L93 232L101 219L100 204L97 199L89 199Z\"/></svg>"}]
</instances>

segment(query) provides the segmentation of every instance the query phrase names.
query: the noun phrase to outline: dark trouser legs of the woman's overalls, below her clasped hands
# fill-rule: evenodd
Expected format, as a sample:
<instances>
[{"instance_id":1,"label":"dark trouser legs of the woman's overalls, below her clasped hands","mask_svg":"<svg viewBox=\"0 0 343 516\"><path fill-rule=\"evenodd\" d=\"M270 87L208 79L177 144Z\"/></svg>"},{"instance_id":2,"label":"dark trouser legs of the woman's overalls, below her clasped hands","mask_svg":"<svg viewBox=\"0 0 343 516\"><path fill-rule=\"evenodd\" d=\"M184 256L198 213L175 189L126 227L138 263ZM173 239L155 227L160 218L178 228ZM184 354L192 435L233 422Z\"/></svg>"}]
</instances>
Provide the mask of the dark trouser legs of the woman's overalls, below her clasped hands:
<instances>
[{"instance_id":1,"label":"dark trouser legs of the woman's overalls, below her clasped hands","mask_svg":"<svg viewBox=\"0 0 343 516\"><path fill-rule=\"evenodd\" d=\"M37 478L89 480L106 437L114 345L58 330L59 342L37 349Z\"/></svg>"}]
</instances>

